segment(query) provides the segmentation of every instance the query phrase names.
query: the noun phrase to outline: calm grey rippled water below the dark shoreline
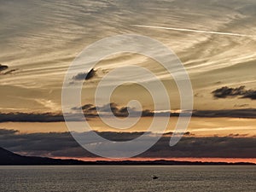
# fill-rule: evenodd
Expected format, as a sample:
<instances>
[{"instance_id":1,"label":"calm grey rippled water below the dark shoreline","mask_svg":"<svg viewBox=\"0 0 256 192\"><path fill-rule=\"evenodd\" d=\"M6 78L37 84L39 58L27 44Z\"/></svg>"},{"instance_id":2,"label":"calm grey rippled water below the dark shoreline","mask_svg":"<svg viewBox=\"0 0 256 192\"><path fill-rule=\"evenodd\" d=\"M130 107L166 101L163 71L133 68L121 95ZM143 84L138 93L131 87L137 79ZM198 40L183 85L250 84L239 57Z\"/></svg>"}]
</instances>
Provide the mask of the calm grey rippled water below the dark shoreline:
<instances>
[{"instance_id":1,"label":"calm grey rippled water below the dark shoreline","mask_svg":"<svg viewBox=\"0 0 256 192\"><path fill-rule=\"evenodd\" d=\"M256 191L256 166L0 166L0 172L2 192Z\"/></svg>"}]
</instances>

